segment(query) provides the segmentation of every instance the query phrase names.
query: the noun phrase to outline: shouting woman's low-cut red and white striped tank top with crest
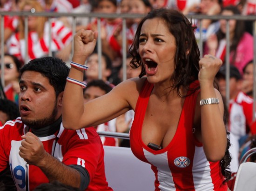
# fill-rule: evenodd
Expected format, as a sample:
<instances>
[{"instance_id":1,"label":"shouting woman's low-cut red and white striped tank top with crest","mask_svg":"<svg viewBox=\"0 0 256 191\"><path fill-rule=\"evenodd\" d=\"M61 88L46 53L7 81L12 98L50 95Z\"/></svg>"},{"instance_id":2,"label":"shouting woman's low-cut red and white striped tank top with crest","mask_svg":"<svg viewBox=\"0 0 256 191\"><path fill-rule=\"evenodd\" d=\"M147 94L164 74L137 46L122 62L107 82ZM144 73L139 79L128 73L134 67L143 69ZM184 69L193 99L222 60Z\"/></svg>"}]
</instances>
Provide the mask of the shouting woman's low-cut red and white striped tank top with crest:
<instances>
[{"instance_id":1,"label":"shouting woman's low-cut red and white striped tank top with crest","mask_svg":"<svg viewBox=\"0 0 256 191\"><path fill-rule=\"evenodd\" d=\"M202 143L193 135L197 93L185 98L175 136L167 147L155 151L143 143L141 129L153 87L145 80L135 108L130 145L137 158L151 164L155 191L227 191L220 162L209 162Z\"/></svg>"}]
</instances>

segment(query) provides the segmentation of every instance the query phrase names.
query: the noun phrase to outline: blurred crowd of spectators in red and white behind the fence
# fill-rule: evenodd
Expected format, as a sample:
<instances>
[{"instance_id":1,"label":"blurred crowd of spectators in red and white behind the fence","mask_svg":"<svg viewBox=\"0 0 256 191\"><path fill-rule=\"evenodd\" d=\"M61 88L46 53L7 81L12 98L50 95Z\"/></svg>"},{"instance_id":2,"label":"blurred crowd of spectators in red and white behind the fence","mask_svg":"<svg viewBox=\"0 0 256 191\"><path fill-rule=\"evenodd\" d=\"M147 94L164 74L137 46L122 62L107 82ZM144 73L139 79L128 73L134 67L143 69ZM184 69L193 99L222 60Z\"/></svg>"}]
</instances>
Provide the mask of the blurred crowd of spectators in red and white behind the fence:
<instances>
[{"instance_id":1,"label":"blurred crowd of spectators in red and white behind the fence","mask_svg":"<svg viewBox=\"0 0 256 191\"><path fill-rule=\"evenodd\" d=\"M0 11L58 12L58 13L128 13L147 14L156 8L178 9L185 15L255 15L256 0L0 0ZM127 79L137 77L140 68L132 68L132 59L128 49L132 44L136 28L141 18L126 19L126 28L122 28L121 18L101 18L101 60L97 48L88 58L84 81L88 88L84 91L85 101L108 93L123 80L122 66L122 31L126 32ZM47 56L52 51L54 57L61 58L67 64L72 53L71 17L56 17L49 22L47 17L28 17L28 37L25 42L24 16L4 16L4 82L2 91L5 100L18 103L19 69L31 59ZM216 51L216 57L222 59L223 67L216 76L223 100L226 100L226 29L227 20L192 20L197 26L196 38L200 38L199 26L202 26L203 52ZM51 30L49 30L51 28ZM253 120L253 36L252 21L229 20L229 103L227 105L227 128L231 140L231 154L234 164L231 171L236 172L239 159L250 148L256 134L256 122ZM97 18L78 17L76 31L80 29L97 30ZM51 31L51 33L49 33ZM27 47L27 55L26 54ZM27 60L26 60L27 58ZM101 79L99 80L99 67ZM103 82L103 83L102 83ZM0 103L0 121L15 119L18 107L9 103ZM2 105L5 105L2 107ZM8 106L6 106L8 105ZM6 108L10 108L8 110ZM15 115L12 113L15 113ZM95 127L98 131L128 132L133 119L133 112L128 112L107 124ZM4 117L2 117L4 116ZM105 145L125 145L128 143L116 139L102 139Z\"/></svg>"}]
</instances>

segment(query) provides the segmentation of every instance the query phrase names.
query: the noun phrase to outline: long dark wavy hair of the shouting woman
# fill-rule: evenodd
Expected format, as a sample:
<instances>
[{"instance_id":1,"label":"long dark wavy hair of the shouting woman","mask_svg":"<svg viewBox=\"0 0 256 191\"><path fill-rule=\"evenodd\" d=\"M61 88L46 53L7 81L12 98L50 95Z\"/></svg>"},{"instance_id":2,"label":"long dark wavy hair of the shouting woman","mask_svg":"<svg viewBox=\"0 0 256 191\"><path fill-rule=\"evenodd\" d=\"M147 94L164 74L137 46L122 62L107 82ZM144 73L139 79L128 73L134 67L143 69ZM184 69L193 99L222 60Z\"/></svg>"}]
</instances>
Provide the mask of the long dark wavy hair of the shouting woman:
<instances>
[{"instance_id":1,"label":"long dark wavy hair of the shouting woman","mask_svg":"<svg viewBox=\"0 0 256 191\"><path fill-rule=\"evenodd\" d=\"M140 78L146 74L141 57L138 53L139 38L143 23L148 19L154 18L164 20L169 32L175 37L177 46L174 60L175 70L171 76L170 85L172 90L176 90L179 96L184 97L184 95L181 95L180 89L189 89L189 84L198 79L200 51L195 40L195 27L192 26L191 22L189 22L181 12L174 9L155 9L141 20L135 33L132 46L129 48L129 53L133 56L130 65L133 68L141 66ZM224 116L224 119L227 118ZM224 158L222 158L220 162L222 174L226 177L224 182L227 182L231 175L229 170L231 161L228 150L229 146L230 141L228 138L227 150Z\"/></svg>"}]
</instances>

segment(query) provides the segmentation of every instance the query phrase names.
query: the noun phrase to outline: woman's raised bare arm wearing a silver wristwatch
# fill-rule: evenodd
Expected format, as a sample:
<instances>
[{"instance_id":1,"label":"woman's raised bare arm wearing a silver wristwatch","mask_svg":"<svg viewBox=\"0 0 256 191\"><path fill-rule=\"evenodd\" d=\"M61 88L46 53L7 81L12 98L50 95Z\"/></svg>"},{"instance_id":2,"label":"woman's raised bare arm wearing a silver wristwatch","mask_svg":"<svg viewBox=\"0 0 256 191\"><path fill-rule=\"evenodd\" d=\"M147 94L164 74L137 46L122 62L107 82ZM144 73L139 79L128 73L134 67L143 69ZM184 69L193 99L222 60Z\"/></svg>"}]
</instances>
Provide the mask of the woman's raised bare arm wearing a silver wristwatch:
<instances>
[{"instance_id":1,"label":"woman's raised bare arm wearing a silver wristwatch","mask_svg":"<svg viewBox=\"0 0 256 191\"><path fill-rule=\"evenodd\" d=\"M212 55L205 55L200 61L198 79L201 92L197 99L199 113L201 113L201 140L205 155L209 161L218 161L225 155L227 134L223 122L223 102L220 92L214 88L214 78L222 61ZM200 105L200 100L218 98L219 104Z\"/></svg>"}]
</instances>

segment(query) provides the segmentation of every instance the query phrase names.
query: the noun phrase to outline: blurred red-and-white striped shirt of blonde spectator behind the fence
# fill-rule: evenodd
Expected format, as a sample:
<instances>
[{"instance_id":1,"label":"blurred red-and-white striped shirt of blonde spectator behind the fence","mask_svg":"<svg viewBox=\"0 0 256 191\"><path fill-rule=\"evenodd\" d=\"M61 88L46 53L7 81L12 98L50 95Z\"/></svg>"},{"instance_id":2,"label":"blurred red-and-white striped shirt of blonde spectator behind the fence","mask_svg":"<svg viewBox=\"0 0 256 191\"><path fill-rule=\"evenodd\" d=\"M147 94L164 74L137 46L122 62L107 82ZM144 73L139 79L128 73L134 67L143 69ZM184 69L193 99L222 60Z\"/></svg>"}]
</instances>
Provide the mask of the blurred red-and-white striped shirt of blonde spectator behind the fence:
<instances>
[{"instance_id":1,"label":"blurred red-and-white striped shirt of blonde spectator behind the fence","mask_svg":"<svg viewBox=\"0 0 256 191\"><path fill-rule=\"evenodd\" d=\"M51 25L51 35L49 33L49 22L45 23L44 35L39 39L36 32L28 33L28 60L40 58L48 55L49 41L51 38L52 52L56 52L67 46L72 40L72 31L63 25L61 21L54 20ZM8 53L17 56L19 59L25 59L26 43L25 39L19 38L19 33L13 34L7 41Z\"/></svg>"}]
</instances>

